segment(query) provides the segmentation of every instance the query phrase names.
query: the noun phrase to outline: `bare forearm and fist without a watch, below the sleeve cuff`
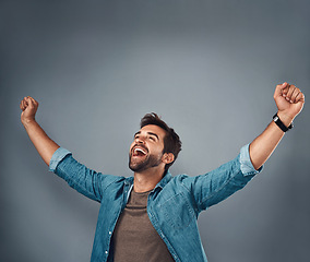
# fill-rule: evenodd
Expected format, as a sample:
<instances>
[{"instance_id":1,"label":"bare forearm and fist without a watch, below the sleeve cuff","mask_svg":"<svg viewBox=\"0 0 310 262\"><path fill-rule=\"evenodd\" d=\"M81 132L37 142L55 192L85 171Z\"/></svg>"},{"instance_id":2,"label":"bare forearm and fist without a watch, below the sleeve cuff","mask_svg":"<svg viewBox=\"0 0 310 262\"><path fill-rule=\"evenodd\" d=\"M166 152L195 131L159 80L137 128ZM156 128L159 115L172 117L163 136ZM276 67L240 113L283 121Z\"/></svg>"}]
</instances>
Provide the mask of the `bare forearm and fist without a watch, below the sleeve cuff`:
<instances>
[{"instance_id":1,"label":"bare forearm and fist without a watch, below the sleeve cuff","mask_svg":"<svg viewBox=\"0 0 310 262\"><path fill-rule=\"evenodd\" d=\"M35 120L38 103L33 97L27 96L21 102L20 107L23 110L21 121L26 129L31 141L35 145L44 162L49 165L50 158L59 145L48 138L48 135Z\"/></svg>"}]
</instances>

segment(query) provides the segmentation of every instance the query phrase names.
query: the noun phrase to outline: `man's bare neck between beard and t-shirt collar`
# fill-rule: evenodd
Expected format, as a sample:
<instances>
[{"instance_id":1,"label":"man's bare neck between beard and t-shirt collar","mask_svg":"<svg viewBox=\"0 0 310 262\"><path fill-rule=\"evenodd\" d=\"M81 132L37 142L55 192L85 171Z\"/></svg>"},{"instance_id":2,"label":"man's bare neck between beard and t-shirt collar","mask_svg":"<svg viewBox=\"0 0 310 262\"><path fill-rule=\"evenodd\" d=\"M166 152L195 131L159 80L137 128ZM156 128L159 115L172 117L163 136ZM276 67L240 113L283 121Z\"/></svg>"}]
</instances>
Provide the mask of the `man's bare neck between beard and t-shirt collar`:
<instances>
[{"instance_id":1,"label":"man's bare neck between beard and t-shirt collar","mask_svg":"<svg viewBox=\"0 0 310 262\"><path fill-rule=\"evenodd\" d=\"M156 187L164 177L165 170L148 168L142 172L134 172L134 192L146 192Z\"/></svg>"}]
</instances>

